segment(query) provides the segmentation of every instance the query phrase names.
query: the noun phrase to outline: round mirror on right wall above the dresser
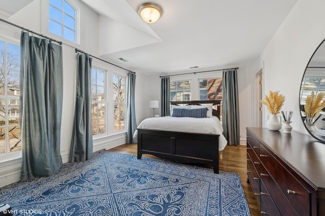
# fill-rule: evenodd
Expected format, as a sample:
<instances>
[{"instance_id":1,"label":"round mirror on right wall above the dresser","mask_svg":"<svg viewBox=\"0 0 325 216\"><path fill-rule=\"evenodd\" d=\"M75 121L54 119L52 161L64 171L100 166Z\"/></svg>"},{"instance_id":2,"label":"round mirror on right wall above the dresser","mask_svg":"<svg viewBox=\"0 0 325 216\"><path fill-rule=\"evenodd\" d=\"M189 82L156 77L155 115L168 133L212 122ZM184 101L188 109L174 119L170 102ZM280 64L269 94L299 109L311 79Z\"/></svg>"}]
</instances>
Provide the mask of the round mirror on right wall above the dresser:
<instances>
[{"instance_id":1,"label":"round mirror on right wall above the dresser","mask_svg":"<svg viewBox=\"0 0 325 216\"><path fill-rule=\"evenodd\" d=\"M325 41L325 40L324 40ZM325 43L311 56L300 88L300 113L307 131L325 143Z\"/></svg>"}]
</instances>

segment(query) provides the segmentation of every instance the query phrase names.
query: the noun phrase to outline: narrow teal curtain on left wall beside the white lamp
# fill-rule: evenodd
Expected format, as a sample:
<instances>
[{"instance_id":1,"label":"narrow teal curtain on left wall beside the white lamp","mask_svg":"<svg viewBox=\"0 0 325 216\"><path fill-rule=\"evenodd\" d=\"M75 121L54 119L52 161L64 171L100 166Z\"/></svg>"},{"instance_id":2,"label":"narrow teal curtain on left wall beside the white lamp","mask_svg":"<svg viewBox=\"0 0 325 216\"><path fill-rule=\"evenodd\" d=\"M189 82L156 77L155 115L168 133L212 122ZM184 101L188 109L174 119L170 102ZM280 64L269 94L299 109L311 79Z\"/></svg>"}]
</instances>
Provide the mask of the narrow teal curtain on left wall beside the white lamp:
<instances>
[{"instance_id":1,"label":"narrow teal curtain on left wall beside the white lamp","mask_svg":"<svg viewBox=\"0 0 325 216\"><path fill-rule=\"evenodd\" d=\"M135 105L135 88L136 88L136 75L132 72L129 72L127 75L127 143L136 143L137 139L133 137L137 129L137 120L136 120L136 105Z\"/></svg>"}]
</instances>

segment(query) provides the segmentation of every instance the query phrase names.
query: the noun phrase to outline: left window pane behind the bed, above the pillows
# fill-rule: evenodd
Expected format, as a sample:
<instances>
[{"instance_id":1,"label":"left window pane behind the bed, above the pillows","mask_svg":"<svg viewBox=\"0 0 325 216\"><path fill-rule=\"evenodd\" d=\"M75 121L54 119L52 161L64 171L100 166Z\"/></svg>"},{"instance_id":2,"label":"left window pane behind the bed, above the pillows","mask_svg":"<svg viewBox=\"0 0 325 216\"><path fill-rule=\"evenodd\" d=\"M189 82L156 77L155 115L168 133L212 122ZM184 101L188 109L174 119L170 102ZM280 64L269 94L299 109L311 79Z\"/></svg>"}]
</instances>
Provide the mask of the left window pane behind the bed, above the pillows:
<instances>
[{"instance_id":1,"label":"left window pane behind the bed, above the pillows","mask_svg":"<svg viewBox=\"0 0 325 216\"><path fill-rule=\"evenodd\" d=\"M191 100L191 81L171 82L171 101Z\"/></svg>"}]
</instances>

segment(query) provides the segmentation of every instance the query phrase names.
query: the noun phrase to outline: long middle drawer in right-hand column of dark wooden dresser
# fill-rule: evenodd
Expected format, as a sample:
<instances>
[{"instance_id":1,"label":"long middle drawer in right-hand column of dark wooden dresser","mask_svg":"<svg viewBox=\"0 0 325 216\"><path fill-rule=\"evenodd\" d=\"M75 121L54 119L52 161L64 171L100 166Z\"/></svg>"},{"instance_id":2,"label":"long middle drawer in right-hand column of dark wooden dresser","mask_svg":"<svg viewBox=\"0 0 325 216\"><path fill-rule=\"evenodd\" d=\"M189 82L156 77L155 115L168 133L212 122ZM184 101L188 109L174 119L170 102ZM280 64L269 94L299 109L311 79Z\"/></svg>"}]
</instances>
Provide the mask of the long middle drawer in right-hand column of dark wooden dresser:
<instances>
[{"instance_id":1,"label":"long middle drawer in right-hand column of dark wooden dresser","mask_svg":"<svg viewBox=\"0 0 325 216\"><path fill-rule=\"evenodd\" d=\"M263 186L267 189L264 191L265 195L263 195L263 199L267 198L267 196L270 196L273 200L274 204L277 206L277 209L279 210L281 215L309 215L309 212L307 214L304 213L297 213L297 211L294 209L294 207L290 204L290 202L287 200L285 195L282 193L281 189L277 186L277 184L273 181L273 178L270 176L270 174L266 171L265 167L261 165L261 185L262 189ZM264 184L264 185L263 185ZM261 195L262 197L262 195ZM266 204L266 203L265 203ZM272 214L270 214L272 215Z\"/></svg>"}]
</instances>

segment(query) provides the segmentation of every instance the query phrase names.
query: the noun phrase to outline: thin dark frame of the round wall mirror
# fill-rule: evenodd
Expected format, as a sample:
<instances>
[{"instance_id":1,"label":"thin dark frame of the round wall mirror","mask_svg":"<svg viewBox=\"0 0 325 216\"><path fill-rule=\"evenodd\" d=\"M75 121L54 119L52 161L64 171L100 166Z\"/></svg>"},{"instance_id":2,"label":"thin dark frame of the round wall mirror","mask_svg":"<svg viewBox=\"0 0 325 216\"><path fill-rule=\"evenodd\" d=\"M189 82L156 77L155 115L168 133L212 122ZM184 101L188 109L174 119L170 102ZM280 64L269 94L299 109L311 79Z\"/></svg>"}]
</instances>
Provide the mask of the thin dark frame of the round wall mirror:
<instances>
[{"instance_id":1,"label":"thin dark frame of the round wall mirror","mask_svg":"<svg viewBox=\"0 0 325 216\"><path fill-rule=\"evenodd\" d=\"M301 119L302 119L302 122L303 122L303 124L304 124L304 126L305 126L305 128L306 128L306 130L308 131L308 133L312 136L312 137L314 137L315 139L317 139L318 141L320 141L320 142L322 142L322 143L325 143L325 128L321 128L321 129L319 129L319 130L323 130L323 132L324 132L324 135L322 136L322 135L319 135L319 134L314 134L315 133L315 131L310 131L309 129L308 129L308 127L307 127L307 125L305 124L305 116L303 116L303 112L305 111L305 109L304 109L304 105L303 104L301 104L301 98L302 98L302 84L303 84L303 82L304 82L304 78L305 78L305 76L306 76L306 71L307 71L307 69L309 69L309 68L322 68L322 67L314 67L314 66L312 66L312 67L310 67L309 66L309 64L310 64L310 62L312 61L312 59L313 59L313 57L315 56L315 53L319 50L319 48L321 47L321 46L324 46L324 48L325 48L325 39L318 45L318 47L316 48L316 50L314 51L314 53L312 54L312 56L310 57L310 59L309 59L309 61L308 61L308 64L307 64L307 66L306 66L306 68L305 68L305 71L304 71L304 75L303 75L303 78L302 78L302 80L301 80L301 83L300 83L300 92L299 92L299 105L300 105L300 115L301 115ZM325 50L325 49L324 49ZM325 53L324 53L325 54ZM325 57L324 57L324 66L323 66L323 68L324 68L324 70L325 70ZM324 79L325 79L325 72L324 72ZM325 109L323 109L323 111L325 111ZM325 113L325 112L324 112ZM325 117L325 116L324 116Z\"/></svg>"}]
</instances>

